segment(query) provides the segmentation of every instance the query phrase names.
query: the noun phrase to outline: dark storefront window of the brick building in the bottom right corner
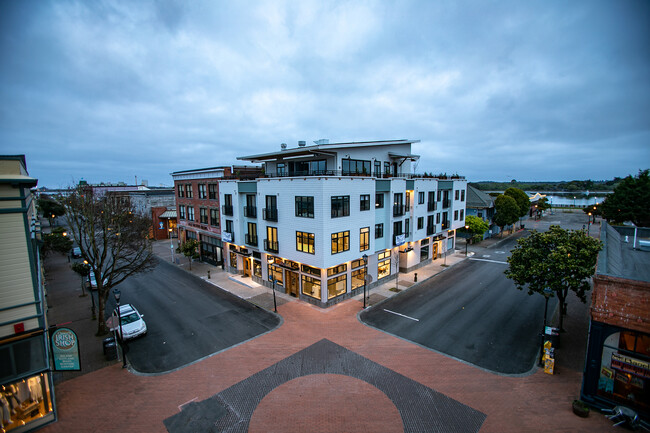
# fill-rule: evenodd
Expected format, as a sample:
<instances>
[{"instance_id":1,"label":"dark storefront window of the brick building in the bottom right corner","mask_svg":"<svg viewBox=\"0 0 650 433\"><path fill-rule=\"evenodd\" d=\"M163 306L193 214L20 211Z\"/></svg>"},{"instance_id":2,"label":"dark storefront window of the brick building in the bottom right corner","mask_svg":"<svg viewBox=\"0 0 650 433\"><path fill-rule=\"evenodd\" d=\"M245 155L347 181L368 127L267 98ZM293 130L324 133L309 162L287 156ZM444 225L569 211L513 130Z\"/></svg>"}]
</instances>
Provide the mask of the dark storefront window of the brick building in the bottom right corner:
<instances>
[{"instance_id":1,"label":"dark storefront window of the brick building in the bottom right corner","mask_svg":"<svg viewBox=\"0 0 650 433\"><path fill-rule=\"evenodd\" d=\"M607 337L598 395L650 409L650 335L622 331Z\"/></svg>"}]
</instances>

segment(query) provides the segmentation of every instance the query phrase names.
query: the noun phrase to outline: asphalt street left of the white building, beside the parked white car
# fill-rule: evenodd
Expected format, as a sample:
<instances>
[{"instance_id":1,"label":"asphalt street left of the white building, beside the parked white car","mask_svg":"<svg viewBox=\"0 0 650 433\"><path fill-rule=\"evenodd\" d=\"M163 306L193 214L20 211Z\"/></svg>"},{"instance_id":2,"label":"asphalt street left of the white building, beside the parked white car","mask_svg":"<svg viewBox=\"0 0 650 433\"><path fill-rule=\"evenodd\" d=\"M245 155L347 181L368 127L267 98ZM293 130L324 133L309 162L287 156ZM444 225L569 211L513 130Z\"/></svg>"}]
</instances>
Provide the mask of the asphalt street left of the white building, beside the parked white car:
<instances>
[{"instance_id":1,"label":"asphalt street left of the white building, beside the parked white car","mask_svg":"<svg viewBox=\"0 0 650 433\"><path fill-rule=\"evenodd\" d=\"M148 332L128 342L138 372L167 372L275 329L280 317L159 260L125 280L120 302L133 304ZM112 298L112 297L111 297ZM107 314L115 308L110 299Z\"/></svg>"}]
</instances>

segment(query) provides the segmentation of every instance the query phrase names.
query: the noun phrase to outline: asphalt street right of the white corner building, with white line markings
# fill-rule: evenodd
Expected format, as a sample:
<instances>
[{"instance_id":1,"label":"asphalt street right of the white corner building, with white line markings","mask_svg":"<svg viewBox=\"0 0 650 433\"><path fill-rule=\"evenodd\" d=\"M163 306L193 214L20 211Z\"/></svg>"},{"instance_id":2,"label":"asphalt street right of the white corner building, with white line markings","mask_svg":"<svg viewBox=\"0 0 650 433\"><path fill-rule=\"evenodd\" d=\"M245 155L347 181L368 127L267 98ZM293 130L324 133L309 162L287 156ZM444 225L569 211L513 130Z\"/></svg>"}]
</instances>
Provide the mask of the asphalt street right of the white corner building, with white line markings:
<instances>
[{"instance_id":1,"label":"asphalt street right of the white corner building, with white line markings","mask_svg":"<svg viewBox=\"0 0 650 433\"><path fill-rule=\"evenodd\" d=\"M362 312L362 322L490 371L529 372L544 298L517 290L503 274L517 237ZM552 299L548 317L555 306Z\"/></svg>"}]
</instances>

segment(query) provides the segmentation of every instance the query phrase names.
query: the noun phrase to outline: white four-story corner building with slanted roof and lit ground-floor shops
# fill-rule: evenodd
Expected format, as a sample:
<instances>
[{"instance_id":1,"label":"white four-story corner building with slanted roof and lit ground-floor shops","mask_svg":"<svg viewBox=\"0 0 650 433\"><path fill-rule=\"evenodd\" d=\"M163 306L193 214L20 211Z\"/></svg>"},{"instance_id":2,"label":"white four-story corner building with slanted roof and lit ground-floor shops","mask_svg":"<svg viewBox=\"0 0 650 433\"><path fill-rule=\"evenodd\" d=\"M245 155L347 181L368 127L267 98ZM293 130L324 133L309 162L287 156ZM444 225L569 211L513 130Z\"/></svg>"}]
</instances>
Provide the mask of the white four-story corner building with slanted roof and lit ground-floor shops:
<instances>
[{"instance_id":1,"label":"white four-story corner building with slanted roof and lit ground-floor shops","mask_svg":"<svg viewBox=\"0 0 650 433\"><path fill-rule=\"evenodd\" d=\"M238 158L264 176L219 182L229 271L326 307L447 254L467 182L413 173L417 142L319 140Z\"/></svg>"}]
</instances>

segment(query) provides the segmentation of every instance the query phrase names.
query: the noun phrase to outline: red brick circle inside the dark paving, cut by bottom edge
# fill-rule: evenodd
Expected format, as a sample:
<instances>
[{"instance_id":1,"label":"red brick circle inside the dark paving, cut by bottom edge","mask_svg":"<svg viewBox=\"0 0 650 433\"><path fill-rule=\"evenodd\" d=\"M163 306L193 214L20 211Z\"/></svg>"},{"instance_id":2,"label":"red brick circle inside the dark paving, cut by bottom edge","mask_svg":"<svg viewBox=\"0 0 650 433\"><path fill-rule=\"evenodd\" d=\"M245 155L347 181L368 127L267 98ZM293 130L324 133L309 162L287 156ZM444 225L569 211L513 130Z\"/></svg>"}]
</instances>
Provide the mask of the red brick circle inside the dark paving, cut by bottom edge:
<instances>
[{"instance_id":1,"label":"red brick circle inside the dark paving, cut by bottom edge","mask_svg":"<svg viewBox=\"0 0 650 433\"><path fill-rule=\"evenodd\" d=\"M249 433L403 432L399 411L386 394L350 376L312 374L267 394L253 412Z\"/></svg>"}]
</instances>

